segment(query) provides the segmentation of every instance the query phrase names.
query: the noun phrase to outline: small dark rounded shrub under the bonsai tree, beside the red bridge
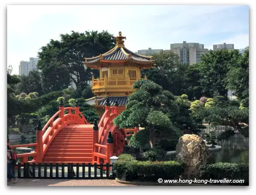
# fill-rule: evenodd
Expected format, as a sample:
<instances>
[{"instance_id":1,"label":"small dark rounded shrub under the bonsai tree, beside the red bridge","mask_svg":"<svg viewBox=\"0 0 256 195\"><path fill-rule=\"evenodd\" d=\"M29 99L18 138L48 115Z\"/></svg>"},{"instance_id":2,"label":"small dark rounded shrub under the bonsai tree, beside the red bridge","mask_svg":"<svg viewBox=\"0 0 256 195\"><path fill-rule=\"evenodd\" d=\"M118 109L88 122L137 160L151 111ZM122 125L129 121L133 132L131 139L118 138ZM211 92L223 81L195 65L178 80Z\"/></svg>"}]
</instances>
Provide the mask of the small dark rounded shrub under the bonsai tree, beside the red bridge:
<instances>
[{"instance_id":1,"label":"small dark rounded shrub under the bonsai tree, beside the red bridge","mask_svg":"<svg viewBox=\"0 0 256 195\"><path fill-rule=\"evenodd\" d=\"M129 140L128 145L135 148L140 148L149 142L149 132L147 129L140 130L133 134Z\"/></svg>"}]
</instances>

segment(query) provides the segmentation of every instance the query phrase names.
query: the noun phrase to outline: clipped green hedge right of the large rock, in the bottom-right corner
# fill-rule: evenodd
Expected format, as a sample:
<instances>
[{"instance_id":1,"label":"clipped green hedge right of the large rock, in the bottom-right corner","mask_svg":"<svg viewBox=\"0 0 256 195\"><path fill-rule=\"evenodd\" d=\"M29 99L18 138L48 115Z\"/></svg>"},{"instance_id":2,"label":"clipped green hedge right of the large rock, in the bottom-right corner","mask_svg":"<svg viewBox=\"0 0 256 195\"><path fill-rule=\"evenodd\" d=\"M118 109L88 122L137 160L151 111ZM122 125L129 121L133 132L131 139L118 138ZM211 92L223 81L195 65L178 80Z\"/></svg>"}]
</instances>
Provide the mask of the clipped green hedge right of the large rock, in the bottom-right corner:
<instances>
[{"instance_id":1,"label":"clipped green hedge right of the large rock, in the bottom-right corner","mask_svg":"<svg viewBox=\"0 0 256 195\"><path fill-rule=\"evenodd\" d=\"M199 171L201 179L244 179L244 183L240 185L249 183L249 165L247 164L216 163L201 166Z\"/></svg>"}]
</instances>

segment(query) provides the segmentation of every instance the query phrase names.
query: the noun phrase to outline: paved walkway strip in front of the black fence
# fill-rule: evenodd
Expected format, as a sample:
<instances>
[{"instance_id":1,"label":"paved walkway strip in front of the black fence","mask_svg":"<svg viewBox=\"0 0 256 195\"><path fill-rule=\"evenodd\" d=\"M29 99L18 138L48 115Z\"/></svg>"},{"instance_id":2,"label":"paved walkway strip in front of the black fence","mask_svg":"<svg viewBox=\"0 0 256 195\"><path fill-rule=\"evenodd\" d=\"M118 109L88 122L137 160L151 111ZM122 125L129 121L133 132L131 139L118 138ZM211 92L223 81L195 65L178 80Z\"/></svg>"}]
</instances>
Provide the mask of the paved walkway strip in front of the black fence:
<instances>
[{"instance_id":1,"label":"paved walkway strip in front of the black fence","mask_svg":"<svg viewBox=\"0 0 256 195\"><path fill-rule=\"evenodd\" d=\"M129 186L114 179L19 179L7 181L8 186Z\"/></svg>"}]
</instances>

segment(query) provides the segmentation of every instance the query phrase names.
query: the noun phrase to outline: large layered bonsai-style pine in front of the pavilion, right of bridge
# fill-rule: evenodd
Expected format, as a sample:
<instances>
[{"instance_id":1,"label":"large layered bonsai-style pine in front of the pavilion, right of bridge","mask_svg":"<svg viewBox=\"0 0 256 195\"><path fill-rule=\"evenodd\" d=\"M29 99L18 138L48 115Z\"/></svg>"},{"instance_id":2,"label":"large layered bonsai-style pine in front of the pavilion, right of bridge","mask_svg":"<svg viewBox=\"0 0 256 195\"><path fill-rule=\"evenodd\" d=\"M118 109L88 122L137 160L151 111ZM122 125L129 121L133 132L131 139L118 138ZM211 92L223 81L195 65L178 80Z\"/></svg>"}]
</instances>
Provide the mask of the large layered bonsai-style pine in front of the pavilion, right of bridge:
<instances>
[{"instance_id":1,"label":"large layered bonsai-style pine in front of the pavilion, right of bridge","mask_svg":"<svg viewBox=\"0 0 256 195\"><path fill-rule=\"evenodd\" d=\"M145 127L149 133L150 147L154 148L156 128L169 134L175 131L170 117L177 113L178 105L172 93L153 81L136 81L133 88L137 90L129 97L126 110L113 123L121 128Z\"/></svg>"}]
</instances>

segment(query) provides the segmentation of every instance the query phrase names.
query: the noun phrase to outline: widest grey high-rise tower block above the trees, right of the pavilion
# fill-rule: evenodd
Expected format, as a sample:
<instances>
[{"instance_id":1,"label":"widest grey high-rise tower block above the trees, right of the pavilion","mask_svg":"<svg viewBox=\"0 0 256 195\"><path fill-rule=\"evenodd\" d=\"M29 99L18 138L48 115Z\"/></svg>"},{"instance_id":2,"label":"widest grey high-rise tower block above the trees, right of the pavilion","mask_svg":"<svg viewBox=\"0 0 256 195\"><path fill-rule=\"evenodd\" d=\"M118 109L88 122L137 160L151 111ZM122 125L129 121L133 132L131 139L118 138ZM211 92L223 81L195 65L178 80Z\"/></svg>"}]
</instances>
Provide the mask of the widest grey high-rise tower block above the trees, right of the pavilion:
<instances>
[{"instance_id":1,"label":"widest grey high-rise tower block above the trees, right of the pavilion","mask_svg":"<svg viewBox=\"0 0 256 195\"><path fill-rule=\"evenodd\" d=\"M170 44L170 51L179 55L181 63L193 64L200 61L200 55L208 52L204 44L199 43L174 43Z\"/></svg>"}]
</instances>

